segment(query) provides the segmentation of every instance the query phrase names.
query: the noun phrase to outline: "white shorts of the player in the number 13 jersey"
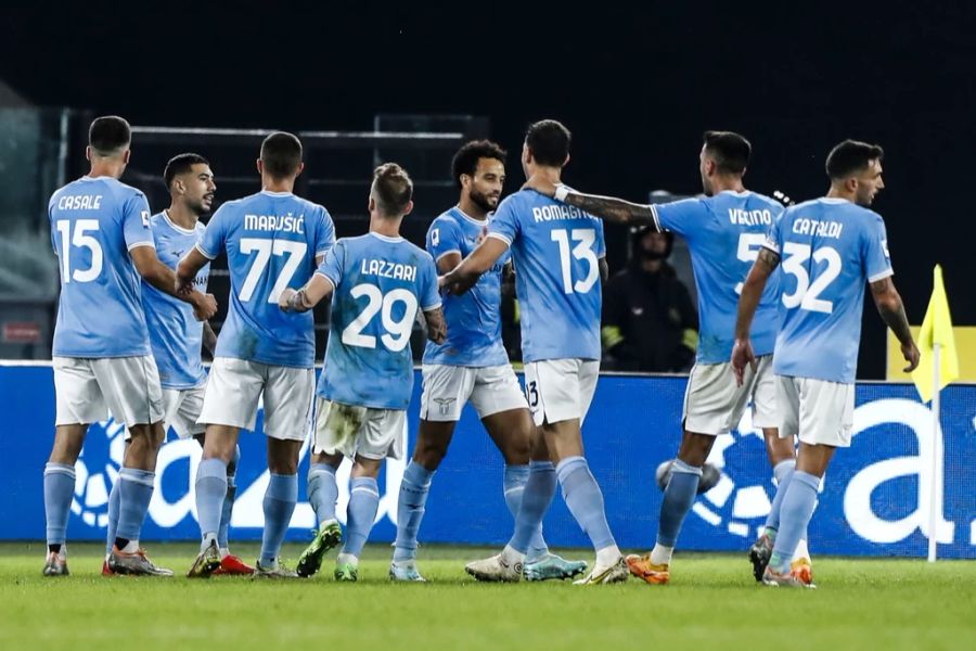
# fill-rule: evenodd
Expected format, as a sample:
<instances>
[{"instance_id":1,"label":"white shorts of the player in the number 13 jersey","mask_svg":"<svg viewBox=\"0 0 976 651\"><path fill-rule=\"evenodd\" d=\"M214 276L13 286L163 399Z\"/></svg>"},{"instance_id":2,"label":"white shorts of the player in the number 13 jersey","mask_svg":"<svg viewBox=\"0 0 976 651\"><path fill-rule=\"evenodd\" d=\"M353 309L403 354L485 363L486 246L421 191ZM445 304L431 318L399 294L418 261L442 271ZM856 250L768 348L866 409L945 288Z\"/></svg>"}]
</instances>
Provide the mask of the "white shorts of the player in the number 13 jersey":
<instances>
[{"instance_id":1,"label":"white shorts of the player in the number 13 jersey","mask_svg":"<svg viewBox=\"0 0 976 651\"><path fill-rule=\"evenodd\" d=\"M543 359L525 365L525 397L536 425L579 419L582 426L596 392L600 362Z\"/></svg>"}]
</instances>

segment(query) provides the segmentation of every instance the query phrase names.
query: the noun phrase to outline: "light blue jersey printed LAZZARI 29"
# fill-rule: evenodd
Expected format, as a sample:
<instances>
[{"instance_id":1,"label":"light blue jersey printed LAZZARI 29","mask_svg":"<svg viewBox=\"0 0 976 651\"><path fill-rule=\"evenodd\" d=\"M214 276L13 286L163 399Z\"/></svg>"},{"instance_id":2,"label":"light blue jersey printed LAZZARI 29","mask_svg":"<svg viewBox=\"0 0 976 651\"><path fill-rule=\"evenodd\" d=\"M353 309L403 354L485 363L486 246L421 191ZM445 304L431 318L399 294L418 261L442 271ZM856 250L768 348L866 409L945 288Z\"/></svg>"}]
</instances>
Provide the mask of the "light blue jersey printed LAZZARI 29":
<instances>
[{"instance_id":1,"label":"light blue jersey printed LAZZARI 29","mask_svg":"<svg viewBox=\"0 0 976 651\"><path fill-rule=\"evenodd\" d=\"M440 307L434 258L402 238L370 232L336 242L317 273L335 293L316 393L344 405L407 409L416 310Z\"/></svg>"}]
</instances>

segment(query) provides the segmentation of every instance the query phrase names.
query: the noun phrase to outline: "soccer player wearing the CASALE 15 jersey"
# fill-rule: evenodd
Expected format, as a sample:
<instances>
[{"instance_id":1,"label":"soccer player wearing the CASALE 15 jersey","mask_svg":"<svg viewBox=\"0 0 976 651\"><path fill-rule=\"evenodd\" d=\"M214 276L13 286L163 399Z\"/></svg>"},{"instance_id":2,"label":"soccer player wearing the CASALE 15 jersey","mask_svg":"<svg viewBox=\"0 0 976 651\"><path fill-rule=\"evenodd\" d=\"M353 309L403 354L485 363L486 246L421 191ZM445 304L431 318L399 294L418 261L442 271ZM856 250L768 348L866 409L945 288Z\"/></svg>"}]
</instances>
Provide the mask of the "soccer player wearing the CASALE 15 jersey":
<instances>
[{"instance_id":1,"label":"soccer player wearing the CASALE 15 jersey","mask_svg":"<svg viewBox=\"0 0 976 651\"><path fill-rule=\"evenodd\" d=\"M75 493L75 462L88 426L108 411L130 436L118 484L118 527L108 566L119 574L171 576L139 547L163 444L163 395L142 311L140 277L172 294L172 270L156 257L149 204L118 181L129 163L132 132L118 116L97 118L88 131L91 170L57 190L48 206L61 268L52 361L56 420L44 467L48 557L44 576L67 575L65 532ZM188 285L189 286L189 285ZM197 319L217 311L210 295L184 291Z\"/></svg>"}]
</instances>

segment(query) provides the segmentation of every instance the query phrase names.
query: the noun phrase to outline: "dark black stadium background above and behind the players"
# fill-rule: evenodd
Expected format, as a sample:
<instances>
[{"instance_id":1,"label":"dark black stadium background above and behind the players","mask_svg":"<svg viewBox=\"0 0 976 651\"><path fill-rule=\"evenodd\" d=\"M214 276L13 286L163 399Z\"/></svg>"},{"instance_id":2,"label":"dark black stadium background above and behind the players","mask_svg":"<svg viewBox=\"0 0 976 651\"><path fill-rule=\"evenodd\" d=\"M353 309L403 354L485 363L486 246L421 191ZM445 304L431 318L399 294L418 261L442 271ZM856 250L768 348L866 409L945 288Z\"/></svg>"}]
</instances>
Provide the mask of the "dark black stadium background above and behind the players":
<instances>
[{"instance_id":1,"label":"dark black stadium background above and behind the players","mask_svg":"<svg viewBox=\"0 0 976 651\"><path fill-rule=\"evenodd\" d=\"M699 191L704 129L745 133L747 186L794 199L826 190L832 144L875 141L887 153L875 207L910 320L938 261L955 322L976 324L976 7L615 4L22 3L0 10L0 78L40 105L143 125L364 130L377 113L481 115L511 153L510 191L524 127L555 117L575 133L566 180L638 201ZM619 230L609 244L619 267ZM860 374L879 378L873 307L864 332Z\"/></svg>"}]
</instances>

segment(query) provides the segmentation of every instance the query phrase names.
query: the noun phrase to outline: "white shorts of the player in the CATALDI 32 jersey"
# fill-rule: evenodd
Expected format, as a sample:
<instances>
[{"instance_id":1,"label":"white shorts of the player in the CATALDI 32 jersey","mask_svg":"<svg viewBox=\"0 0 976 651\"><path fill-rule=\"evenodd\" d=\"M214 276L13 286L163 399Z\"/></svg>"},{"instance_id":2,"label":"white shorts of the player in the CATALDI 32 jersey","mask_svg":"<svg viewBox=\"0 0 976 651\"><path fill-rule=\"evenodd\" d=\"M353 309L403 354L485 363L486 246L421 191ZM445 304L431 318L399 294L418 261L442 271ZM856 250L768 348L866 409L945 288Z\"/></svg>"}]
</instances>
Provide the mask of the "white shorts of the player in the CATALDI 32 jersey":
<instances>
[{"instance_id":1,"label":"white shorts of the player in the CATALDI 32 jersey","mask_svg":"<svg viewBox=\"0 0 976 651\"><path fill-rule=\"evenodd\" d=\"M780 438L798 436L807 445L850 447L853 397L853 384L776 375Z\"/></svg>"}]
</instances>

